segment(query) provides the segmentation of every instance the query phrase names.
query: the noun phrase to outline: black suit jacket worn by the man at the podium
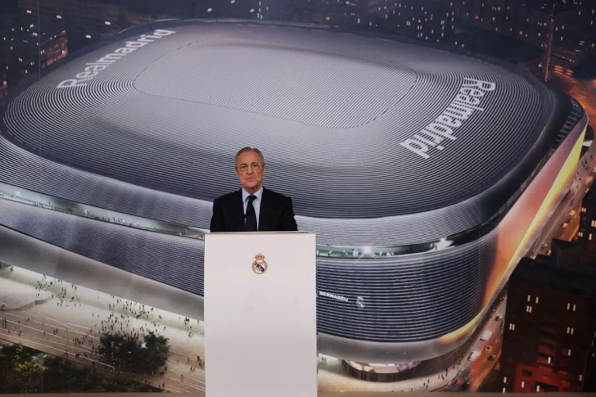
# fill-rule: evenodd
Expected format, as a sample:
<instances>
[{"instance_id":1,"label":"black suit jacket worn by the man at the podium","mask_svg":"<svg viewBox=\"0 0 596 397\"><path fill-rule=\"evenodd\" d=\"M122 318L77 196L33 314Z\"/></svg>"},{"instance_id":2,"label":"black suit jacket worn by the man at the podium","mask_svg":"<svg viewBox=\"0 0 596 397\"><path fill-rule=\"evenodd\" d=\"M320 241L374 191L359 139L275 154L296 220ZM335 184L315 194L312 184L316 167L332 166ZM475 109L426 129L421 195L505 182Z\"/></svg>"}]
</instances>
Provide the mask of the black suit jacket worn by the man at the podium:
<instances>
[{"instance_id":1,"label":"black suit jacket worn by the man at the podium","mask_svg":"<svg viewBox=\"0 0 596 397\"><path fill-rule=\"evenodd\" d=\"M211 232L246 232L242 190L213 201ZM263 188L259 212L259 232L296 232L292 199Z\"/></svg>"}]
</instances>

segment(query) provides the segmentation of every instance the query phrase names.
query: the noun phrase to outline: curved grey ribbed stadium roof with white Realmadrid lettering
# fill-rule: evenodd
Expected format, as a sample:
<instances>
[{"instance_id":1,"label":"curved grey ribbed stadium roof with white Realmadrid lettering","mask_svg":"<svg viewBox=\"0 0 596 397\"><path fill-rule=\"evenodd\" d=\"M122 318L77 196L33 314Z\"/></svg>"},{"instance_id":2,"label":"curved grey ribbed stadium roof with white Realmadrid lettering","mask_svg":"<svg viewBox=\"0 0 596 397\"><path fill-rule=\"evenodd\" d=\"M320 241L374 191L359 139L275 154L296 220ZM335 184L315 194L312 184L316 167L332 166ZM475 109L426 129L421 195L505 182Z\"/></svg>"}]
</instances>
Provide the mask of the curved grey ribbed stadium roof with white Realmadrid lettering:
<instances>
[{"instance_id":1,"label":"curved grey ribbed stadium roof with white Realmadrid lettering","mask_svg":"<svg viewBox=\"0 0 596 397\"><path fill-rule=\"evenodd\" d=\"M125 31L11 101L0 180L207 228L251 145L319 243L411 245L490 220L558 132L555 93L460 54L280 24L161 29Z\"/></svg>"}]
</instances>

